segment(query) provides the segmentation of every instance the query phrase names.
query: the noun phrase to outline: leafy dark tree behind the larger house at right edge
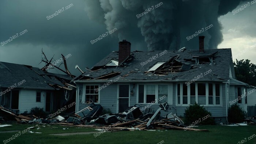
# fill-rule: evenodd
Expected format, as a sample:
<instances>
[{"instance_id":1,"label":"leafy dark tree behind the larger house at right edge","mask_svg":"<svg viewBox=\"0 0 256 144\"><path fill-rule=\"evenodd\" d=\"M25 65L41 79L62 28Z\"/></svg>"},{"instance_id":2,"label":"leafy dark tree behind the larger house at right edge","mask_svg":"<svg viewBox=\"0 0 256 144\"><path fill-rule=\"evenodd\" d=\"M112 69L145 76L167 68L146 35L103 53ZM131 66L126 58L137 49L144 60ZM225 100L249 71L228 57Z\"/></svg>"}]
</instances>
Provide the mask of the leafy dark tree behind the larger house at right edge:
<instances>
[{"instance_id":1,"label":"leafy dark tree behind the larger house at right edge","mask_svg":"<svg viewBox=\"0 0 256 144\"><path fill-rule=\"evenodd\" d=\"M236 73L236 79L247 83L249 85L256 86L256 65L250 63L250 60L242 59L238 61L236 59L236 63L234 62L234 69Z\"/></svg>"}]
</instances>

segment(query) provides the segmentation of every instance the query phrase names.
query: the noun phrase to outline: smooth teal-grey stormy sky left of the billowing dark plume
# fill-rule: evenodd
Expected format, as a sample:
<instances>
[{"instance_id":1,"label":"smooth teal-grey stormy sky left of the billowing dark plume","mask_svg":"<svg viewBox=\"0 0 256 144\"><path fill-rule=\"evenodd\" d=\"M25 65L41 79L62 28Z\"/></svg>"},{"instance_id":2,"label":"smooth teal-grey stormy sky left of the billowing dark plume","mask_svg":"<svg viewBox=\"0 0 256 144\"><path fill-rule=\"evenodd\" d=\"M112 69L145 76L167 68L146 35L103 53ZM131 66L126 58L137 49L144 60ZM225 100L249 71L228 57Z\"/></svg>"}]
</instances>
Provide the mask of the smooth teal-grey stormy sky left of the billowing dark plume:
<instances>
[{"instance_id":1,"label":"smooth teal-grey stormy sky left of the billowing dark plume","mask_svg":"<svg viewBox=\"0 0 256 144\"><path fill-rule=\"evenodd\" d=\"M52 19L46 16L69 4L72 7ZM95 44L90 41L105 33L106 26L88 19L84 11L84 0L68 1L0 1L0 42L27 29L22 36L0 45L0 61L43 67L41 48L55 59L60 54L71 57L67 60L69 70L78 74L76 64L83 70L91 67L111 51L118 51L118 39L109 35ZM97 11L95 11L97 13ZM141 36L142 38L142 36ZM141 39L140 38L140 39ZM134 46L136 44L133 44ZM138 46L140 43L137 44ZM143 45L141 45L143 46ZM145 47L145 46L144 46ZM54 71L55 72L55 71Z\"/></svg>"}]
</instances>

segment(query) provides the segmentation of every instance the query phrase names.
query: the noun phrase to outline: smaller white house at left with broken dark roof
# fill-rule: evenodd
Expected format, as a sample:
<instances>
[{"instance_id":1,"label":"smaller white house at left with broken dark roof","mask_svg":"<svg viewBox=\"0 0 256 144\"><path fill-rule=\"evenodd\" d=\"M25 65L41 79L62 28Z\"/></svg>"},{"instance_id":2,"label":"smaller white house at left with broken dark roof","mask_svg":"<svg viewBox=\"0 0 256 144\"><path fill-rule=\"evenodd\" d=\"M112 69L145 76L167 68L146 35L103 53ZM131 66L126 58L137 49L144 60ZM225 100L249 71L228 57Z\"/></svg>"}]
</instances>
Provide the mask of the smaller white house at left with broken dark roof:
<instances>
[{"instance_id":1,"label":"smaller white house at left with broken dark roof","mask_svg":"<svg viewBox=\"0 0 256 144\"><path fill-rule=\"evenodd\" d=\"M34 107L57 111L75 101L72 79L29 65L0 62L0 105L15 113L30 112Z\"/></svg>"}]
</instances>

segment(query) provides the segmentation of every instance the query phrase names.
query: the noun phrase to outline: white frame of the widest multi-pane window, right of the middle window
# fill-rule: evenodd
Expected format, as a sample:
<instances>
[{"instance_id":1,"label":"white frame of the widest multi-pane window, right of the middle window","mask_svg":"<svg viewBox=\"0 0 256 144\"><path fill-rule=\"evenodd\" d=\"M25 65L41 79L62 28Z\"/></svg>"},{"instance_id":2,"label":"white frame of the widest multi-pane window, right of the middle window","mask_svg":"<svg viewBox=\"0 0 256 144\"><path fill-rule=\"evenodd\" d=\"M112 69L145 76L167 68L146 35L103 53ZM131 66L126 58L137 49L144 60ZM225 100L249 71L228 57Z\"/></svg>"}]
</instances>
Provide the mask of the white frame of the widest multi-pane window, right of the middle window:
<instances>
[{"instance_id":1,"label":"white frame of the widest multi-pane window, right of the middle window","mask_svg":"<svg viewBox=\"0 0 256 144\"><path fill-rule=\"evenodd\" d=\"M198 82L198 83L204 83L204 82ZM216 94L215 94L215 84L214 82L210 82L212 83L212 87L213 87L213 105L210 104L209 105L209 101L208 101L208 98L209 98L209 87L208 87L208 82L205 83L206 84L206 104L200 104L200 105L203 105L203 106L207 106L207 107L219 107L221 106L222 107L222 83L219 83L220 85L220 104L216 104ZM178 90L178 87L177 85L180 84L180 104L178 104L178 93L177 93L177 90ZM176 106L189 106L189 105L192 105L190 104L190 84L188 85L188 104L183 104L183 83L176 83L175 84L175 87L176 87L176 99L175 99L175 103L176 103ZM198 89L197 89L197 83L195 83L195 92L196 92L196 103L198 104Z\"/></svg>"}]
</instances>

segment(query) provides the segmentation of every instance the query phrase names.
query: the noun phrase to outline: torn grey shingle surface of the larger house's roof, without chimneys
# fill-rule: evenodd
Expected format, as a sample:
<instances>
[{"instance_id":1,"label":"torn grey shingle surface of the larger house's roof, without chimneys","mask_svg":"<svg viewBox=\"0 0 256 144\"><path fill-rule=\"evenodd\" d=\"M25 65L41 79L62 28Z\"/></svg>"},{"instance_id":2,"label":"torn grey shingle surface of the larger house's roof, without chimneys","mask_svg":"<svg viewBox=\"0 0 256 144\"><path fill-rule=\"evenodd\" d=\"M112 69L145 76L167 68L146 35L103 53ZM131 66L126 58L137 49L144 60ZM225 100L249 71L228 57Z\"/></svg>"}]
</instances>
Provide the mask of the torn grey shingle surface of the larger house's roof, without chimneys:
<instances>
[{"instance_id":1,"label":"torn grey shingle surface of the larger house's roof, without chimneys","mask_svg":"<svg viewBox=\"0 0 256 144\"><path fill-rule=\"evenodd\" d=\"M206 49L204 53L199 53L199 50L186 50L184 52L178 52L169 50L162 56L159 55L162 51L148 51L148 52L131 52L135 58L128 63L124 62L121 66L106 67L111 60L118 58L118 52L111 52L104 59L94 65L92 70L87 71L82 75L76 77L74 81L79 80L101 80L95 79L97 77L108 75L114 72L120 72L119 75L109 77L108 80L114 79L118 76L122 78L119 80L180 80L189 81L194 79L203 73L201 80L212 81L225 81L229 80L229 68L231 60L231 49ZM153 56L157 56L155 60L152 60ZM212 57L213 62L210 64L196 64L196 57ZM151 58L151 59L150 59ZM150 62L145 63L145 61ZM174 60L174 61L173 61ZM173 71L156 70L148 72L158 62L175 62L172 67ZM144 65L142 66L144 62ZM168 66L168 65L167 65ZM189 70L188 70L189 69ZM211 69L212 72L204 76L204 72ZM170 72L171 71L171 72ZM125 76L125 77L124 77Z\"/></svg>"}]
</instances>

